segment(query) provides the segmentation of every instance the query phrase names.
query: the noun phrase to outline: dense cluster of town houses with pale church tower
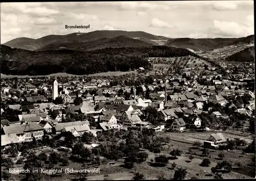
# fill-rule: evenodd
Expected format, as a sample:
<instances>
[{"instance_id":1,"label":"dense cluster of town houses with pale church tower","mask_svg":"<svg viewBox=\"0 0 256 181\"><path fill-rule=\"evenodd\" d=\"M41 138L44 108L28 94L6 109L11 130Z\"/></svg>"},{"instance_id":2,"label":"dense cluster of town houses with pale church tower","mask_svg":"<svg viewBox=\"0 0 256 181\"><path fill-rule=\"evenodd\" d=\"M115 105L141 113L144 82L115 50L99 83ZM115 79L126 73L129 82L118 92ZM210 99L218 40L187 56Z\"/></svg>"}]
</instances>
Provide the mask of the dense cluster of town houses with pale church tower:
<instances>
[{"instance_id":1,"label":"dense cluster of town houses with pale church tower","mask_svg":"<svg viewBox=\"0 0 256 181\"><path fill-rule=\"evenodd\" d=\"M182 85L181 81L183 81ZM67 84L59 84L55 80L51 87L51 92L47 86L40 87L40 89L46 91L46 96L12 97L12 99L18 99L20 102L27 101L31 105L22 106L16 104L1 108L1 114L4 114L7 108L22 111L22 114L17 116L17 120L1 120L2 146L10 143L31 141L33 137L41 139L45 134L54 136L68 131L74 137L80 137L84 132L91 132L97 136L97 132L109 129L127 130L128 128L133 128L137 130L152 129L154 131L162 131L165 129L164 122L167 120L171 120L170 129L183 131L188 123L200 127L201 120L198 115L203 112L203 104L214 102L225 105L228 101L223 96L236 99L237 96L249 95L252 100L250 104L244 105L241 109L236 108L236 111L247 116L252 115L252 111L255 109L254 93L244 88L246 82L234 84L234 82L224 79L213 81L214 85L203 86L195 80L187 81L179 76L168 77L164 80L165 90L150 93L150 99L144 99L140 95L136 96L136 91L134 91L134 95L129 100L125 100L125 96L118 95L117 92L119 89L123 89L124 92L129 93L131 92L131 86L112 86L111 88L100 89L98 88L100 87L99 84L110 85L110 81L93 79L90 84L81 82L76 86L72 85L73 87L70 87ZM166 86L166 82L169 86ZM95 85L92 85L94 83ZM145 85L141 85L141 87L143 92L147 90L153 92L162 83L163 80L155 79L153 85L148 85L147 88ZM243 85L242 88L239 85ZM73 89L73 92L71 92L70 88ZM88 91L94 88L98 88L97 95L92 95ZM179 88L180 93L175 93L175 88ZM10 88L8 89L8 87L2 89L3 93L9 92L9 90ZM26 86L25 90L37 91L37 88ZM75 94L74 90L78 90L78 94ZM10 98L10 95L3 94L1 97L5 100ZM49 97L53 100L61 97L63 104L55 105L52 102L49 103ZM82 100L80 105L74 104L77 97ZM157 109L162 123L152 124L141 119L143 118L143 110L148 106ZM233 106L236 107L231 103L230 107ZM49 111L55 112L57 116L52 118L49 115ZM92 127L88 120L62 122L68 113L84 114L87 118L90 117L95 122L99 122L99 124L97 124L97 127ZM212 116L225 117L220 112L213 112Z\"/></svg>"}]
</instances>

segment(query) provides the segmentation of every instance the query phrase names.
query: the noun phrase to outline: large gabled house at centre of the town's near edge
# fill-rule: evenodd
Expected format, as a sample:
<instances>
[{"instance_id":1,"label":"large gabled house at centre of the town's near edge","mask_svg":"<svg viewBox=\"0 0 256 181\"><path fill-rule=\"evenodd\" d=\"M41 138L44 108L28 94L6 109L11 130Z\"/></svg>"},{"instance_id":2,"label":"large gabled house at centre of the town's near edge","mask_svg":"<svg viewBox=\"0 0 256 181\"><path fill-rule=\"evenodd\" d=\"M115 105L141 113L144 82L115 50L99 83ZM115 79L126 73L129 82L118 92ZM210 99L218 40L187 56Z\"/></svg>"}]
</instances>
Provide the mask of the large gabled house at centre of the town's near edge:
<instances>
[{"instance_id":1,"label":"large gabled house at centre of the town's near edge","mask_svg":"<svg viewBox=\"0 0 256 181\"><path fill-rule=\"evenodd\" d=\"M136 123L141 122L139 114L140 112L136 110L124 111L123 126L135 126Z\"/></svg>"}]
</instances>

